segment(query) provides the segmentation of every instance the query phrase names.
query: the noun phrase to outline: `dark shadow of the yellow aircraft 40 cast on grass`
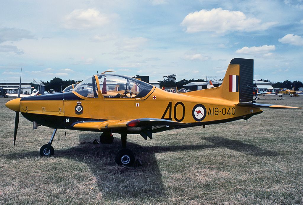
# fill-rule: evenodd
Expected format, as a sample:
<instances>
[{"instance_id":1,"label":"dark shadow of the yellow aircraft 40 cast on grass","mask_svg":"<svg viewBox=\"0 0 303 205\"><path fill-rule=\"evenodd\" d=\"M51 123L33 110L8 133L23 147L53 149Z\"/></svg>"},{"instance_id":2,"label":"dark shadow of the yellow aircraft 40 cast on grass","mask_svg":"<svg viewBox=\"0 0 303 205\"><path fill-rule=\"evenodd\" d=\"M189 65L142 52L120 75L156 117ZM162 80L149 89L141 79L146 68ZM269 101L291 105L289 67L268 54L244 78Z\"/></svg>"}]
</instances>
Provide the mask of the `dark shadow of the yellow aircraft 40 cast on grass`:
<instances>
[{"instance_id":1,"label":"dark shadow of the yellow aircraft 40 cast on grass","mask_svg":"<svg viewBox=\"0 0 303 205\"><path fill-rule=\"evenodd\" d=\"M138 168L120 168L115 165L113 160L117 150L121 149L120 139L115 137L111 145L103 145L90 143L94 138L95 134L81 134L79 135L80 144L78 146L69 149L57 149L54 157L72 159L87 164L97 178L98 187L103 196L109 198L165 196L161 172L155 157L156 153L225 147L253 156L278 155L274 151L223 137L201 137L201 139L212 143L207 145L140 146L128 142L128 148L134 151L136 159L140 159L143 162L143 166ZM6 157L16 159L37 157L38 155L39 153L35 151L8 154Z\"/></svg>"}]
</instances>

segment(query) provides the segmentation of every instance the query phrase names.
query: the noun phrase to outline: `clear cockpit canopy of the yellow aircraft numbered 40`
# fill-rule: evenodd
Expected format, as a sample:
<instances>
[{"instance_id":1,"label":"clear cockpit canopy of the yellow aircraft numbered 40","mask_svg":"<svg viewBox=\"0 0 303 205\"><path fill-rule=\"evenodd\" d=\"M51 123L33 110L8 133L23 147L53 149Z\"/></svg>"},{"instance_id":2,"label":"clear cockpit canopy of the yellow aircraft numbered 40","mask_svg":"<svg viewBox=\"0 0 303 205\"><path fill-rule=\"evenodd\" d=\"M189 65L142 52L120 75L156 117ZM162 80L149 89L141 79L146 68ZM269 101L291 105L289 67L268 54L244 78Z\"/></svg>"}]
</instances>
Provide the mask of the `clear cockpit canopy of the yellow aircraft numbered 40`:
<instances>
[{"instance_id":1,"label":"clear cockpit canopy of the yellow aircraft numbered 40","mask_svg":"<svg viewBox=\"0 0 303 205\"><path fill-rule=\"evenodd\" d=\"M87 98L98 98L100 89L104 98L143 98L153 88L152 85L122 75L102 74L97 75L99 85L95 76L79 83L73 91Z\"/></svg>"}]
</instances>

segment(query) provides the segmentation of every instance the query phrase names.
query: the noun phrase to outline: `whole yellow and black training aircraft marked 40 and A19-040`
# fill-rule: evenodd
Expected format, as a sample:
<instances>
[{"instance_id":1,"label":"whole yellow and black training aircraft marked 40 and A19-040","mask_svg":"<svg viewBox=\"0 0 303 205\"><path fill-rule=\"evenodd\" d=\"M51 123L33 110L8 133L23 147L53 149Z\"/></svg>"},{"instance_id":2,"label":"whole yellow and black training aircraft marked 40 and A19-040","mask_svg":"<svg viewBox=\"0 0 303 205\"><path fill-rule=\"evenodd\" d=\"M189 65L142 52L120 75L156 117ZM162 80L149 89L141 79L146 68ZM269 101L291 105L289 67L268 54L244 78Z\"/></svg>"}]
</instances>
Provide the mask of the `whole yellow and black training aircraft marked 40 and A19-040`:
<instances>
[{"instance_id":1,"label":"whole yellow and black training aircraft marked 40 and A19-040","mask_svg":"<svg viewBox=\"0 0 303 205\"><path fill-rule=\"evenodd\" d=\"M123 93L113 92L117 84ZM119 133L123 149L115 161L132 165L135 156L126 149L127 134L152 139L152 133L165 130L248 120L261 114L261 107L298 108L252 100L253 60L235 58L220 87L177 94L135 78L104 73L82 81L71 92L16 98L5 105L16 112L14 145L21 112L34 129L39 125L55 128L49 143L40 149L42 156L54 154L57 129L102 132L101 143L112 143L112 133Z\"/></svg>"}]
</instances>

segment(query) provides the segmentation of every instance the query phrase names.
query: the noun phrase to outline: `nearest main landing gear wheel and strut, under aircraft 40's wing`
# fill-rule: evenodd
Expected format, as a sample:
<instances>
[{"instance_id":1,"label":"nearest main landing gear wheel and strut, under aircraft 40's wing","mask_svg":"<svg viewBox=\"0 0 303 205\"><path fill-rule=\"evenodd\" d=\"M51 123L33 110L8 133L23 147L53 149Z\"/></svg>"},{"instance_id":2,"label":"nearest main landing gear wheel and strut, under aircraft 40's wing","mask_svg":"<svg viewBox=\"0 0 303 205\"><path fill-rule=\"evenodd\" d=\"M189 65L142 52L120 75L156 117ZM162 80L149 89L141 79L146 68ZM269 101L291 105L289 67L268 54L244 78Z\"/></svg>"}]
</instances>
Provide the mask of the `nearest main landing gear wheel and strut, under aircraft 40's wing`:
<instances>
[{"instance_id":1,"label":"nearest main landing gear wheel and strut, under aircraft 40's wing","mask_svg":"<svg viewBox=\"0 0 303 205\"><path fill-rule=\"evenodd\" d=\"M134 153L126 149L126 133L121 133L122 149L116 154L115 161L119 166L132 166L135 162Z\"/></svg>"}]
</instances>

